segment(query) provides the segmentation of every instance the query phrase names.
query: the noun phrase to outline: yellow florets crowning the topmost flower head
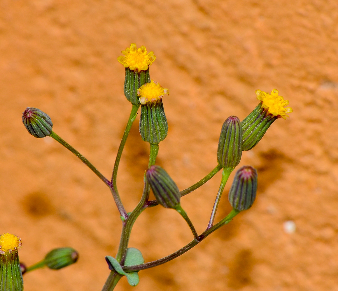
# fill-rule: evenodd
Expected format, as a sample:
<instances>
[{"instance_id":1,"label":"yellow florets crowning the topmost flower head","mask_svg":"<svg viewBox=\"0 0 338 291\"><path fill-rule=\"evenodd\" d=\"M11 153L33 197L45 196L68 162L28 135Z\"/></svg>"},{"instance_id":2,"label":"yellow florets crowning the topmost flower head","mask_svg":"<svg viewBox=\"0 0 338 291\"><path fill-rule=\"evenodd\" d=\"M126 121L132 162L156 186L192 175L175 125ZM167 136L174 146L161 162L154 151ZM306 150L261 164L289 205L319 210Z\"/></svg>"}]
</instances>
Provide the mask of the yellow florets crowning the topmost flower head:
<instances>
[{"instance_id":1,"label":"yellow florets crowning the topmost flower head","mask_svg":"<svg viewBox=\"0 0 338 291\"><path fill-rule=\"evenodd\" d=\"M130 45L130 49L126 48L125 51L122 51L124 56L119 56L117 60L124 65L125 68L134 71L145 71L148 69L149 65L153 63L156 59L153 52L147 54L145 46L137 48L135 43Z\"/></svg>"}]
</instances>

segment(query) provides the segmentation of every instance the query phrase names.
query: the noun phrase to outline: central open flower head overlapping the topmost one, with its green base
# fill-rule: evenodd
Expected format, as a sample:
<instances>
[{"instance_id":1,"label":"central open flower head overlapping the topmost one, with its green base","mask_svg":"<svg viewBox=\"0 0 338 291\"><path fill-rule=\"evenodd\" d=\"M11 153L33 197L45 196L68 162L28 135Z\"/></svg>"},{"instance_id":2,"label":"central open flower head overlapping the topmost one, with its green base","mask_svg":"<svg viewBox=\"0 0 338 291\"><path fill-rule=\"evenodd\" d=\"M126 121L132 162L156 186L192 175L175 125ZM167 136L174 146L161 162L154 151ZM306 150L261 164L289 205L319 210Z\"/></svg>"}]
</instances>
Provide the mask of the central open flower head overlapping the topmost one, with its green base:
<instances>
[{"instance_id":1,"label":"central open flower head overlapping the topmost one, with its green base","mask_svg":"<svg viewBox=\"0 0 338 291\"><path fill-rule=\"evenodd\" d=\"M152 144L163 141L168 134L168 123L162 103L164 94L169 94L169 90L153 80L137 90L142 104L140 134L144 141Z\"/></svg>"}]
</instances>

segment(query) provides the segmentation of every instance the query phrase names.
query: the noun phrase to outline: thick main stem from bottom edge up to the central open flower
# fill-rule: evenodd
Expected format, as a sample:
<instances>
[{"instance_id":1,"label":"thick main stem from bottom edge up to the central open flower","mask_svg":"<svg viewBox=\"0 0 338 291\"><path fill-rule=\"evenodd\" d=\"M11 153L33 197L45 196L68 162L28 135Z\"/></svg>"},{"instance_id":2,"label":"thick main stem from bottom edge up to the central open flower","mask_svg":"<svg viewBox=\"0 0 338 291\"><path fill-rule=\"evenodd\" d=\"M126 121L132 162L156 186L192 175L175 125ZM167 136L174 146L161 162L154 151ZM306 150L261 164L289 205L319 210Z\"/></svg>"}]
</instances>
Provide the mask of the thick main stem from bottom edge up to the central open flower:
<instances>
[{"instance_id":1,"label":"thick main stem from bottom edge up to the central open flower","mask_svg":"<svg viewBox=\"0 0 338 291\"><path fill-rule=\"evenodd\" d=\"M149 156L149 164L148 167L152 166L156 162L156 156L159 152L159 144L150 144L150 156ZM120 245L118 252L116 254L116 260L120 263L120 265L123 266L125 256L128 249L128 242L130 238L131 229L137 219L137 217L142 213L144 209L147 208L147 200L149 197L150 192L150 186L147 180L144 182L143 187L143 193L140 202L137 204L135 209L130 213L129 216L127 216L127 219L123 222L122 225L122 233L121 233L121 239L120 239ZM117 274L115 271L111 271L102 291L112 291L114 290L114 287L116 286L117 282L121 279L121 277L117 277L119 274ZM114 283L116 281L116 283Z\"/></svg>"}]
</instances>

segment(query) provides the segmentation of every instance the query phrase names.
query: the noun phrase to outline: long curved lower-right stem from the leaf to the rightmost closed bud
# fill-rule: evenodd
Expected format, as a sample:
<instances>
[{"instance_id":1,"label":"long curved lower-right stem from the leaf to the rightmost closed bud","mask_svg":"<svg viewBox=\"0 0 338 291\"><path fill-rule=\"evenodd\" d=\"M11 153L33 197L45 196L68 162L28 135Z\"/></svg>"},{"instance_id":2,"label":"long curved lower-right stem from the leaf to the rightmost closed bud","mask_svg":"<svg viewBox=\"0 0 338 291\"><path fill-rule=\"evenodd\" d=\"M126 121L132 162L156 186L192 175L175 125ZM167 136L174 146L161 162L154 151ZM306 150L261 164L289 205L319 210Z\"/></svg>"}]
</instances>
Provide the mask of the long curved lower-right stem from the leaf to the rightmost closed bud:
<instances>
[{"instance_id":1,"label":"long curved lower-right stem from the leaf to the rightmost closed bud","mask_svg":"<svg viewBox=\"0 0 338 291\"><path fill-rule=\"evenodd\" d=\"M215 230L219 229L221 226L228 224L229 222L231 222L231 220L239 213L238 210L233 209L231 210L231 212L224 218L222 219L219 223L215 224L213 227L206 229L202 234L200 234L198 236L198 240L194 239L191 242L189 242L187 245L185 245L182 249L179 249L178 251L172 253L169 256L166 256L162 259L159 260L155 260L155 261L151 261L148 263L144 263L144 264L140 264L140 265L134 265L134 266L124 266L123 270L125 272L135 272L135 271L139 271L139 270L144 270L144 269L148 269L148 268L152 268L152 267L156 267L158 265L162 265L164 263L167 263L177 257L179 257L180 255L183 255L184 253L186 253L187 251L189 251L190 249L192 249L196 244L198 244L199 242L201 242L204 238L206 238L208 235L210 235L211 233L213 233Z\"/></svg>"}]
</instances>

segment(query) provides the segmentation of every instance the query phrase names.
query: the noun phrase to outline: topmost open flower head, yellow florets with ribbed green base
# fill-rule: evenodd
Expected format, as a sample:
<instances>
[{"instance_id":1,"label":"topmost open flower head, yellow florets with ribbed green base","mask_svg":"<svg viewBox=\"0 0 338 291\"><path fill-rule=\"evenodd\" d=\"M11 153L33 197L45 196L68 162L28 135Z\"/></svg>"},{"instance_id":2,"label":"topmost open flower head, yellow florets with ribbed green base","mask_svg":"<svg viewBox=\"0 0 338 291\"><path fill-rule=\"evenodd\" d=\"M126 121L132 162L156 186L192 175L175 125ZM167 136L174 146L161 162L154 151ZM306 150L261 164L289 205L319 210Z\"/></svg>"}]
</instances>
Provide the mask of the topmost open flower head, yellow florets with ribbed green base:
<instances>
[{"instance_id":1,"label":"topmost open flower head, yellow florets with ribbed green base","mask_svg":"<svg viewBox=\"0 0 338 291\"><path fill-rule=\"evenodd\" d=\"M140 104L136 92L142 85L150 82L149 66L155 60L153 52L147 53L144 46L137 48L135 43L122 51L118 61L125 67L124 95L132 104Z\"/></svg>"}]
</instances>

